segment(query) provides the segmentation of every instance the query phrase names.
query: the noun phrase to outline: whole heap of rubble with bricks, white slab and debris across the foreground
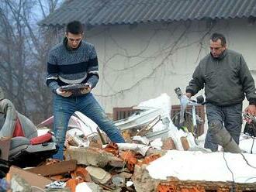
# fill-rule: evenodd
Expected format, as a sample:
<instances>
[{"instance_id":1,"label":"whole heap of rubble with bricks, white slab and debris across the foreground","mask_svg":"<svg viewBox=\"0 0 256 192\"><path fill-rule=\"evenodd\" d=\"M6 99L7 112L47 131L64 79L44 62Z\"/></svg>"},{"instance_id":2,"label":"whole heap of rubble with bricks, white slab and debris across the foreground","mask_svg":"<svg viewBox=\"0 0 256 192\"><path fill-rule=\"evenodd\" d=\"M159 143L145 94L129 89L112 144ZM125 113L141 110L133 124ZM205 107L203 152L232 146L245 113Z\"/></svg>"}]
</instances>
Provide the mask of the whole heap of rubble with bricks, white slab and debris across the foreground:
<instances>
[{"instance_id":1,"label":"whole heap of rubble with bricks, white slab and debris across the foreground","mask_svg":"<svg viewBox=\"0 0 256 192\"><path fill-rule=\"evenodd\" d=\"M256 172L251 169L256 157L209 153L201 145L203 138L195 139L173 125L168 101L163 94L138 105L139 111L129 118L116 121L126 143L110 142L98 125L76 111L68 124L64 161L47 159L22 169L0 160L0 191L256 191ZM51 123L49 118L38 125L40 134L48 132L41 127ZM249 166L244 167L243 158ZM244 173L237 171L234 177L230 170L239 167L238 162ZM224 181L209 177L214 173Z\"/></svg>"}]
</instances>

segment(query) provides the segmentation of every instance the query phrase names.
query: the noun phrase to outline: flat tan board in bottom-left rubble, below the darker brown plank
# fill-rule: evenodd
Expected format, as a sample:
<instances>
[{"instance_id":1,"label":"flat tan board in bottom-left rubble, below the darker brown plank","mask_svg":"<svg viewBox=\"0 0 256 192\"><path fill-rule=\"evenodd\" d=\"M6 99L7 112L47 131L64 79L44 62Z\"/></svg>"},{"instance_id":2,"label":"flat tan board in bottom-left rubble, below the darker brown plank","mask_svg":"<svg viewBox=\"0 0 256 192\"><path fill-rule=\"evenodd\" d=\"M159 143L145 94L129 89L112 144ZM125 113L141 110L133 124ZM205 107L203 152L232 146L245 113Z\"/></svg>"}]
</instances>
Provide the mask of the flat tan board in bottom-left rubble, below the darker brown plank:
<instances>
[{"instance_id":1,"label":"flat tan board in bottom-left rubble, below the darker brown plank","mask_svg":"<svg viewBox=\"0 0 256 192\"><path fill-rule=\"evenodd\" d=\"M9 170L10 177L13 177L15 174L18 174L19 177L26 180L30 186L40 187L42 189L45 188L47 184L52 183L51 180L47 179L46 177L36 175L35 173L31 173L26 170L22 170L17 166L11 166Z\"/></svg>"}]
</instances>

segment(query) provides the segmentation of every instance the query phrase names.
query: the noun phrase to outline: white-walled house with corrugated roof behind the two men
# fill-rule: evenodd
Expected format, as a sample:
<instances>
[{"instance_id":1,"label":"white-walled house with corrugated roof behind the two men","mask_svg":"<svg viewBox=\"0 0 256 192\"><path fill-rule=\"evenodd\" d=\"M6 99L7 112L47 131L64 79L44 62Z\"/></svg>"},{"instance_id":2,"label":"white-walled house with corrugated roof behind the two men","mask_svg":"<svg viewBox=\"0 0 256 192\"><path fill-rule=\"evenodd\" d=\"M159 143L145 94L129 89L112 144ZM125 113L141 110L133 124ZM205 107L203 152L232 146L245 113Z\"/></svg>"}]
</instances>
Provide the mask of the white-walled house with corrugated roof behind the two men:
<instances>
[{"instance_id":1,"label":"white-walled house with corrugated roof behind the two men","mask_svg":"<svg viewBox=\"0 0 256 192\"><path fill-rule=\"evenodd\" d=\"M85 39L99 58L94 94L112 113L161 93L178 105L174 89L185 90L214 32L227 36L256 78L255 17L254 0L68 0L39 25L61 41L67 22L85 24Z\"/></svg>"}]
</instances>

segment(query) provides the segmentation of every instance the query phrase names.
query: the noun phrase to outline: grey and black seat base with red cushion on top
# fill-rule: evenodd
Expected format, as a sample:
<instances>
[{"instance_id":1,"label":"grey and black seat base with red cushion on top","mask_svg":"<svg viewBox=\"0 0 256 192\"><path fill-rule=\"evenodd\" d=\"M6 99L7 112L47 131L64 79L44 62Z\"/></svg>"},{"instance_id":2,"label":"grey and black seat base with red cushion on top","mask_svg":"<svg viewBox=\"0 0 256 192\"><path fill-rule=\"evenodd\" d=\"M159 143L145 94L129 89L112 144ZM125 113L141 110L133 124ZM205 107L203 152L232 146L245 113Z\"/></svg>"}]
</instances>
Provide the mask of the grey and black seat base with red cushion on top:
<instances>
[{"instance_id":1,"label":"grey and black seat base with red cushion on top","mask_svg":"<svg viewBox=\"0 0 256 192\"><path fill-rule=\"evenodd\" d=\"M19 167L37 166L57 153L57 144L50 132L41 136L37 136L37 132L26 136L26 133L31 132L27 129L23 131L25 132L24 136L9 139L1 138L0 144L3 142L0 147L2 149L2 159L8 160L10 164Z\"/></svg>"}]
</instances>

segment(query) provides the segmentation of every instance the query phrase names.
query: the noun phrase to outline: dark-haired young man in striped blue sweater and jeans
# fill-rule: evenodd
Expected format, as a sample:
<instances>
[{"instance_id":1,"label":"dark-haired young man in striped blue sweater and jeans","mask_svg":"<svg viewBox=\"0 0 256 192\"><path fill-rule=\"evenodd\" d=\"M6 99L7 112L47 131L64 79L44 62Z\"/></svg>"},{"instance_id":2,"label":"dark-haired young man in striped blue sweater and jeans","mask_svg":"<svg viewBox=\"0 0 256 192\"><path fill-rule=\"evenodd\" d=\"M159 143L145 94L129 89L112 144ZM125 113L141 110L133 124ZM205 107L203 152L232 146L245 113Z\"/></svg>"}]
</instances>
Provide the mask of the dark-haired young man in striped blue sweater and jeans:
<instances>
[{"instance_id":1,"label":"dark-haired young man in striped blue sweater and jeans","mask_svg":"<svg viewBox=\"0 0 256 192\"><path fill-rule=\"evenodd\" d=\"M99 81L98 59L95 47L82 38L81 22L69 22L63 42L49 52L47 86L54 93L54 135L59 146L55 159L63 159L67 123L74 111L81 111L91 118L112 142L125 142L91 93ZM74 94L61 89L68 84L85 84L87 87Z\"/></svg>"}]
</instances>

